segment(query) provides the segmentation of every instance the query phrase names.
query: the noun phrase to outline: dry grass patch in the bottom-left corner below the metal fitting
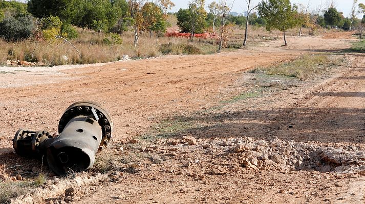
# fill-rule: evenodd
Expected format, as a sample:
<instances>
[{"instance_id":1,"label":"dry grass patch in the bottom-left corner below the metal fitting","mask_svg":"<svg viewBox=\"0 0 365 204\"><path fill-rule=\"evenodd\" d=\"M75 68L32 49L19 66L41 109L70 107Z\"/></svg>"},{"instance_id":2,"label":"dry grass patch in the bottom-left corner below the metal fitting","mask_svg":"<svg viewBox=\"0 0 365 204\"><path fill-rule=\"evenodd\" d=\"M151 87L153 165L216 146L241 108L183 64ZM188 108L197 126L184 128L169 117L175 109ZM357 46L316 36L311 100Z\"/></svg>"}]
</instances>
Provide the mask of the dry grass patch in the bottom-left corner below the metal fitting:
<instances>
[{"instance_id":1,"label":"dry grass patch in the bottom-left corner below the metal fitting","mask_svg":"<svg viewBox=\"0 0 365 204\"><path fill-rule=\"evenodd\" d=\"M46 175L39 174L34 181L0 183L0 203L11 203L12 198L27 194L46 181Z\"/></svg>"}]
</instances>

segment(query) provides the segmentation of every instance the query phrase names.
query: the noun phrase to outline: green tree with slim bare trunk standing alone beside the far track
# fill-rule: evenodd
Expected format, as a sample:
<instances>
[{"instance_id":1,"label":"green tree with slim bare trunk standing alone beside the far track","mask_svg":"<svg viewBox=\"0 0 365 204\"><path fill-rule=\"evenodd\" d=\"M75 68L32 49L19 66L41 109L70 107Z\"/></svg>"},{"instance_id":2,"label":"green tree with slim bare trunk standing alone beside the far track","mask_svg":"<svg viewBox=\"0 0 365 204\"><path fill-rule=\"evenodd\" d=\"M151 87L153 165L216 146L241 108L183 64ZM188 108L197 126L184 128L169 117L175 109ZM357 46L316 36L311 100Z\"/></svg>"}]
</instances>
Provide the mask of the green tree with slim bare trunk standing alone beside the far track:
<instances>
[{"instance_id":1,"label":"green tree with slim bare trunk standing alone beside the far track","mask_svg":"<svg viewBox=\"0 0 365 204\"><path fill-rule=\"evenodd\" d=\"M302 23L298 16L297 7L289 0L264 0L259 5L259 15L266 21L266 30L277 29L284 34L284 46L287 46L286 31Z\"/></svg>"}]
</instances>

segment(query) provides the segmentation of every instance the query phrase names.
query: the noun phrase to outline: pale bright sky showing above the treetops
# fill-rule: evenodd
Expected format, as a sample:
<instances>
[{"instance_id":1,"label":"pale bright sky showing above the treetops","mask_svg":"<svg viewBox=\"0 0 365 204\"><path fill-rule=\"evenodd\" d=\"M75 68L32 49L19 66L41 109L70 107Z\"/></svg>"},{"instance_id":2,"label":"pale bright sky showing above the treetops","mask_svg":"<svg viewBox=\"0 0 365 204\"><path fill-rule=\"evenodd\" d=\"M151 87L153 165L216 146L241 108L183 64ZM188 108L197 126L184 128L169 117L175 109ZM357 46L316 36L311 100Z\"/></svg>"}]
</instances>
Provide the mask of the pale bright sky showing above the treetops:
<instances>
[{"instance_id":1,"label":"pale bright sky showing above the treetops","mask_svg":"<svg viewBox=\"0 0 365 204\"><path fill-rule=\"evenodd\" d=\"M171 9L172 12L177 12L180 8L187 8L187 5L189 3L188 0L171 0L172 2L174 2L174 4L176 5L173 9ZM206 5L206 10L208 11L207 5L209 5L211 2L213 2L214 0L206 0L205 5ZM216 0L216 2L218 2L219 0ZM319 8L320 4L321 4L321 0L309 0L310 1L310 9L315 10L317 8ZM230 2L230 4L232 4L233 0L228 0L227 2ZM253 4L257 4L258 2L261 2L259 0L253 0L252 1ZM303 4L303 5L308 5L308 0L291 0L291 3L295 3L296 5L298 4ZM327 2L329 2L328 0L322 0L322 4L324 8L328 7L326 5L328 5ZM343 15L345 17L349 17L350 13L351 13L351 9L352 9L352 5L353 5L353 1L352 0L334 0L335 2L335 6L337 8L338 11L343 12ZM365 0L359 0L358 3L363 3L365 4ZM251 3L252 4L252 3ZM232 12L237 12L237 13L242 13L243 10L247 9L247 4L245 0L235 0L233 7L232 7ZM362 18L362 15L358 15L358 18Z\"/></svg>"}]
</instances>

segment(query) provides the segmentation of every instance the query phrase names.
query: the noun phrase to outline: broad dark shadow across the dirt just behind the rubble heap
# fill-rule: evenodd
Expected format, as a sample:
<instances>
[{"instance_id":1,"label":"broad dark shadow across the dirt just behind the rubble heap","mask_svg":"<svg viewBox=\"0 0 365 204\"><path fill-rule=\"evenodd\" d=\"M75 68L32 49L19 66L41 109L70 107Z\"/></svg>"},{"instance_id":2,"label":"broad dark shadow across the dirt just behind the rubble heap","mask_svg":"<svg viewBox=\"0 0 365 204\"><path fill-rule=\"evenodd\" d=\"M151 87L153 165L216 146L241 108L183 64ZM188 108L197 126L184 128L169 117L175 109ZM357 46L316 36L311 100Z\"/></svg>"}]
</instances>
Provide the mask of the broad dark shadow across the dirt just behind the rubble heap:
<instances>
[{"instance_id":1,"label":"broad dark shadow across the dirt just behind the rubble heap","mask_svg":"<svg viewBox=\"0 0 365 204\"><path fill-rule=\"evenodd\" d=\"M343 95L346 95L343 93ZM350 94L351 95L351 94ZM203 113L176 116L170 121L201 124L169 137L194 135L198 139L241 138L280 139L299 142L365 142L365 112L352 108L292 108Z\"/></svg>"}]
</instances>

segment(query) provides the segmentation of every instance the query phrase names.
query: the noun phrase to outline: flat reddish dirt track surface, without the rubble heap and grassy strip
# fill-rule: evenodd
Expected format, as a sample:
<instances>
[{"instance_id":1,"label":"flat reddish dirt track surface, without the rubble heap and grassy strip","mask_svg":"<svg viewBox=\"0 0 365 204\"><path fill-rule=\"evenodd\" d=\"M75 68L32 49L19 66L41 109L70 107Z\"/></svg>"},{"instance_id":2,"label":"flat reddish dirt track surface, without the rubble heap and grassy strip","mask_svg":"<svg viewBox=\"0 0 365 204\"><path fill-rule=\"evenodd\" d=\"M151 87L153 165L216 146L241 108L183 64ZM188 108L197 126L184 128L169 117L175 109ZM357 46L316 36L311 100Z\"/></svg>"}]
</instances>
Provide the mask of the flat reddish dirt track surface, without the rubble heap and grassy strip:
<instances>
[{"instance_id":1,"label":"flat reddish dirt track surface, without the rubble heap and grassy strip","mask_svg":"<svg viewBox=\"0 0 365 204\"><path fill-rule=\"evenodd\" d=\"M125 138L140 137L151 125L165 118L188 118L203 107L209 110L220 106L220 101L247 89L245 83L251 79L244 71L248 68L303 54L337 52L348 48L350 41L349 34L290 37L288 48L280 47L282 42L278 40L234 53L167 56L102 67L27 68L30 72L0 68L4 71L0 75L0 159L6 166L24 162L11 149L10 140L18 127L56 132L63 110L75 101L94 100L112 113L115 124L112 145L115 146ZM346 58L352 63L333 71L327 78L299 83L272 92L269 97L227 105L223 113L198 114L193 121L208 122L209 127L182 134L196 137L199 144L244 137L269 140L275 135L282 140L336 148L355 145L361 150L365 136L365 58L360 54L347 54ZM168 142L159 140L154 145L166 149ZM199 147L179 148L177 158L160 164L142 163L140 173L97 187L95 193L78 203L363 202L365 177L358 174L238 168L195 180L189 175L202 175L213 168L211 165L233 165L230 164L233 159L221 161L221 156L210 155L211 152ZM195 160L202 163L181 167L184 162Z\"/></svg>"}]
</instances>

